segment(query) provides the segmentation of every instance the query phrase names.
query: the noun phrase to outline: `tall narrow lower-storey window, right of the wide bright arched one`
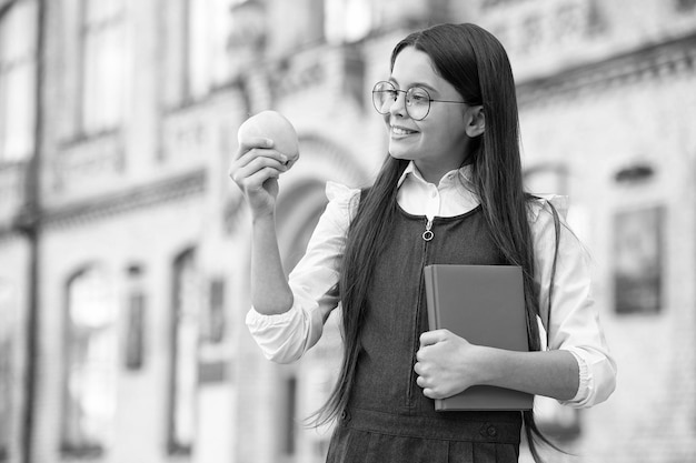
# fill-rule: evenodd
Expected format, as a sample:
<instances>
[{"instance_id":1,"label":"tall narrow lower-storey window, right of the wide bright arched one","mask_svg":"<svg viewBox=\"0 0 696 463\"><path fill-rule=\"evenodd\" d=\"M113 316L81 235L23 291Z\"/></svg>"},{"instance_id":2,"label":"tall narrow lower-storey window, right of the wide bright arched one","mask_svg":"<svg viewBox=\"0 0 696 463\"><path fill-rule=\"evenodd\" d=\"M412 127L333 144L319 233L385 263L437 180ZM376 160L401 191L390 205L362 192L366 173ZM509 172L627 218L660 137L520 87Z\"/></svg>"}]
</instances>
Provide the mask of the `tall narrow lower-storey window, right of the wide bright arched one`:
<instances>
[{"instance_id":1,"label":"tall narrow lower-storey window, right of the wide bright arched one","mask_svg":"<svg viewBox=\"0 0 696 463\"><path fill-rule=\"evenodd\" d=\"M196 422L199 293L193 250L173 262L169 453L190 454Z\"/></svg>"}]
</instances>

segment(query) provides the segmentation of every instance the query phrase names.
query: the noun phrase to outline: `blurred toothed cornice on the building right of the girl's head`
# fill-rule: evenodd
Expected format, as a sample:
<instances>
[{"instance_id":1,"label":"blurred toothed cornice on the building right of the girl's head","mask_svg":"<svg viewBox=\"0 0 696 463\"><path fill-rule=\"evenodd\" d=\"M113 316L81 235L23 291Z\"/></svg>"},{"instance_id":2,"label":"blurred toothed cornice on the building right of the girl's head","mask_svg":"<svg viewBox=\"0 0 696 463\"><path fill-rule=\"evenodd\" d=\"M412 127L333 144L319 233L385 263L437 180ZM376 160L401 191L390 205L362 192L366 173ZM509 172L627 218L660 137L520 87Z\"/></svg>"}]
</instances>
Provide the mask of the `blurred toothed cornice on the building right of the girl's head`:
<instances>
[{"instance_id":1,"label":"blurred toothed cornice on the building right of the girl's head","mask_svg":"<svg viewBox=\"0 0 696 463\"><path fill-rule=\"evenodd\" d=\"M520 81L520 108L543 104L558 97L574 98L587 90L615 88L629 82L663 79L694 71L696 33L648 44L601 61L589 62L555 74Z\"/></svg>"}]
</instances>

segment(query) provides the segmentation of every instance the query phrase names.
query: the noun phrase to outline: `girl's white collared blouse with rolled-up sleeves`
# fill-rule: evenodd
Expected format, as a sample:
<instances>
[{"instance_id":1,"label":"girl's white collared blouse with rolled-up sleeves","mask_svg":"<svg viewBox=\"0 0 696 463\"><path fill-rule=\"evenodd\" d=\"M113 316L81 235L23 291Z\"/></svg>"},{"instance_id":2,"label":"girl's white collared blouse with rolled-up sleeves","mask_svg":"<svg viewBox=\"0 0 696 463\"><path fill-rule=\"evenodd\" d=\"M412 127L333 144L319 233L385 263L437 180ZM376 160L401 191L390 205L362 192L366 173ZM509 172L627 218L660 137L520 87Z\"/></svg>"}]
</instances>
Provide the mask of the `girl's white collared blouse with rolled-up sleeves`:
<instances>
[{"instance_id":1,"label":"girl's white collared blouse with rolled-up sleeves","mask_svg":"<svg viewBox=\"0 0 696 463\"><path fill-rule=\"evenodd\" d=\"M447 173L438 185L428 183L411 162L399 180L397 202L415 215L453 217L479 204L467 188L468 168ZM339 263L346 233L360 191L328 182L329 203L309 241L307 252L289 276L295 302L286 313L264 315L251 309L247 325L269 360L289 363L298 360L321 336L324 323L339 300L329 295L338 282ZM547 323L548 283L555 250L554 219L546 202L560 212L560 241L553 292L550 326ZM549 331L548 349L569 351L578 362L579 387L575 397L561 402L589 407L605 401L616 385L616 363L612 359L590 293L591 279L587 253L563 218L565 198L538 200L529 211L534 239L535 275L539 284L540 326ZM543 332L543 344L546 335Z\"/></svg>"}]
</instances>

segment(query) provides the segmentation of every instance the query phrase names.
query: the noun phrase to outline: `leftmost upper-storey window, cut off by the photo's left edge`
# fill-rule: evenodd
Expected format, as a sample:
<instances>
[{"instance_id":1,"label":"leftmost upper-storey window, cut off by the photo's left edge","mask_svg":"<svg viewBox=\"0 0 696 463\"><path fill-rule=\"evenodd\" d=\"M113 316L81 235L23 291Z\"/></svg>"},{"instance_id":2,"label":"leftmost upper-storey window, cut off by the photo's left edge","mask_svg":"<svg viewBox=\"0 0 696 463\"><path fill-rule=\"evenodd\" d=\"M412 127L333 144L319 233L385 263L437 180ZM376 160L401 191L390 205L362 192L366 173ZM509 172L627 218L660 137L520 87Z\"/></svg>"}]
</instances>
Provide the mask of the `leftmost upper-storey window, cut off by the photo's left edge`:
<instances>
[{"instance_id":1,"label":"leftmost upper-storey window, cut off by the photo's left edge","mask_svg":"<svg viewBox=\"0 0 696 463\"><path fill-rule=\"evenodd\" d=\"M0 162L33 153L37 26L33 0L0 8Z\"/></svg>"}]
</instances>

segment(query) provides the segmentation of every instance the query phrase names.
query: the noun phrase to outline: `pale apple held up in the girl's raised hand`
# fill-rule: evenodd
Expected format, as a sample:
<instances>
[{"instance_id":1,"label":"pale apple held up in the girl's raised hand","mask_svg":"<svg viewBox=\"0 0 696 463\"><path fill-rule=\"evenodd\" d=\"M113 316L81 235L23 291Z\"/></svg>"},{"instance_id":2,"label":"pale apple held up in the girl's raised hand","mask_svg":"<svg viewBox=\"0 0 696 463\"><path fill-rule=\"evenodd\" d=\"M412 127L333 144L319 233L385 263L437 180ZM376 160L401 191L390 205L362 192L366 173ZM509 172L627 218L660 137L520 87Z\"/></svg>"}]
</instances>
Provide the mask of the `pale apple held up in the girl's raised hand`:
<instances>
[{"instance_id":1,"label":"pale apple held up in the girl's raised hand","mask_svg":"<svg viewBox=\"0 0 696 463\"><path fill-rule=\"evenodd\" d=\"M274 141L274 149L288 157L288 165L299 158L299 142L292 123L277 111L261 111L247 119L237 132L239 144L253 138L267 138Z\"/></svg>"}]
</instances>

